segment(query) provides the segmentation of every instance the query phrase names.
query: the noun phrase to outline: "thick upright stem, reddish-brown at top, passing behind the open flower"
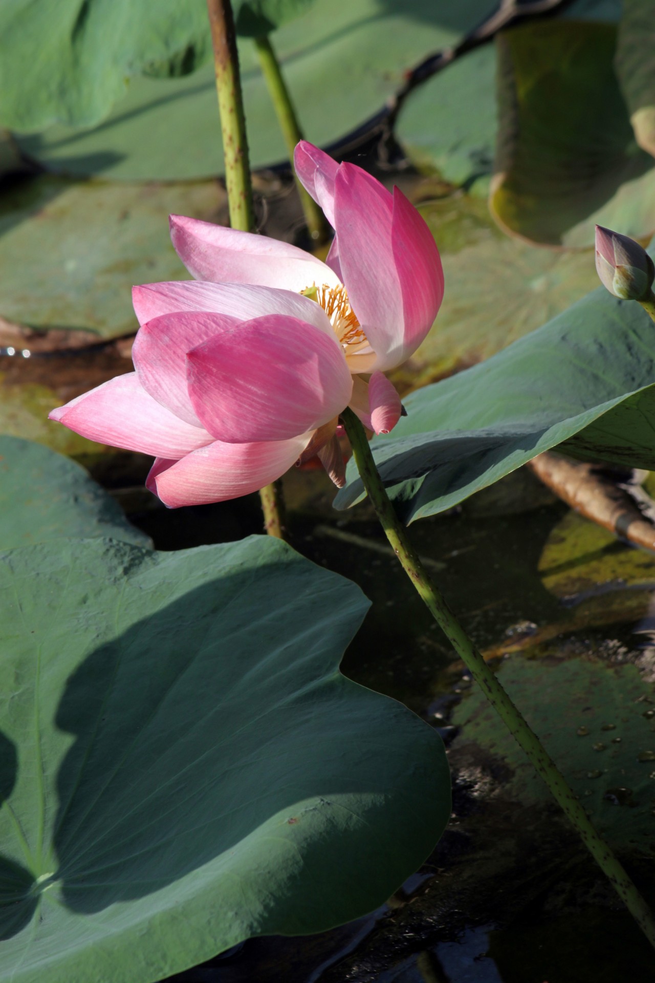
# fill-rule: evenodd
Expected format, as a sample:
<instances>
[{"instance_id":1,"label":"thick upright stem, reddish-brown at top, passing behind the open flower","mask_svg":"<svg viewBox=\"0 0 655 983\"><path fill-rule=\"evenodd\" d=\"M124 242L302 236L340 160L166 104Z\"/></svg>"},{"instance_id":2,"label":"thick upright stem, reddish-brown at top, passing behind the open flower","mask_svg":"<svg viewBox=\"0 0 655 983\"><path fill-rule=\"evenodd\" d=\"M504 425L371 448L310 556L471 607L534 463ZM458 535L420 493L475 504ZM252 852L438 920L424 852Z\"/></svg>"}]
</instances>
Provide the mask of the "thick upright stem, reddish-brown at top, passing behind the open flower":
<instances>
[{"instance_id":1,"label":"thick upright stem, reddish-brown at top, passing behind the open flower","mask_svg":"<svg viewBox=\"0 0 655 983\"><path fill-rule=\"evenodd\" d=\"M221 117L225 186L230 207L230 225L242 232L254 231L252 182L247 155L246 115L239 71L237 33L230 0L207 0L214 71ZM264 529L269 536L284 539L282 489L277 483L259 492Z\"/></svg>"}]
</instances>

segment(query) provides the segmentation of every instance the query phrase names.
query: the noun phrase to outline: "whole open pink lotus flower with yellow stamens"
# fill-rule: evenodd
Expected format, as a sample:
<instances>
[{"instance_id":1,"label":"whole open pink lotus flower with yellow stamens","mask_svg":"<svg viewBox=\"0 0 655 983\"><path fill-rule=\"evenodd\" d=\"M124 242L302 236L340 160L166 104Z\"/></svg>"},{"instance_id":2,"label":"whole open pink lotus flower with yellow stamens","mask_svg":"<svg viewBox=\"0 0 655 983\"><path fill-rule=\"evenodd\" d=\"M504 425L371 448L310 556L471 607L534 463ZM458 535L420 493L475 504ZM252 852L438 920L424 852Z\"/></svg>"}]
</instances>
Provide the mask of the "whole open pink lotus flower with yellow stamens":
<instances>
[{"instance_id":1,"label":"whole open pink lotus flower with yellow stamens","mask_svg":"<svg viewBox=\"0 0 655 983\"><path fill-rule=\"evenodd\" d=\"M146 484L171 507L254 492L314 454L342 485L345 407L377 434L400 418L383 372L415 351L439 310L432 235L398 188L353 164L303 142L296 168L335 228L327 261L172 215L195 280L135 287L136 371L50 414L154 455Z\"/></svg>"}]
</instances>

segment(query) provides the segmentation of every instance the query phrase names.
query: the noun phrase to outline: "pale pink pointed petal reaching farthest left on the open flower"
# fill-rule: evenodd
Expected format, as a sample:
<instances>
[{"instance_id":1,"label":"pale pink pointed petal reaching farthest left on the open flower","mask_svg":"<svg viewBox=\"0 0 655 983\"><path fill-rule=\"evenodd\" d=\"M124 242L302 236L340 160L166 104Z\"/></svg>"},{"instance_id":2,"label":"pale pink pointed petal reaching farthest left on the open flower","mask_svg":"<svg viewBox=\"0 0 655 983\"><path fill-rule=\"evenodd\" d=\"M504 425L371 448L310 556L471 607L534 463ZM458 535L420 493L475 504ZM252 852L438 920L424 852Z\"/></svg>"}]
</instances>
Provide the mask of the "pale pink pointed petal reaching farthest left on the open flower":
<instances>
[{"instance_id":1,"label":"pale pink pointed petal reaching farthest left on the open flower","mask_svg":"<svg viewBox=\"0 0 655 983\"><path fill-rule=\"evenodd\" d=\"M174 460L213 439L156 402L134 372L110 378L49 417L89 440Z\"/></svg>"}]
</instances>

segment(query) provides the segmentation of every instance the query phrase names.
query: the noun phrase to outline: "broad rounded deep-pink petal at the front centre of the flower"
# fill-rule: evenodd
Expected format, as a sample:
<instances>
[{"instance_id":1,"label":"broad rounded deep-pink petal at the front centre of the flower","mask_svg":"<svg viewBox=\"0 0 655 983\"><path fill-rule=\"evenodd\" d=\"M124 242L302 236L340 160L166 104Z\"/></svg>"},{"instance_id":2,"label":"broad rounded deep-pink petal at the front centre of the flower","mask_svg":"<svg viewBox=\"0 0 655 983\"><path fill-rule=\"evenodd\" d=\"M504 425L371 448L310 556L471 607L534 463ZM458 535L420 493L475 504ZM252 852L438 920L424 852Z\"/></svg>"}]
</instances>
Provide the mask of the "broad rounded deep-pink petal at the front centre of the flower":
<instances>
[{"instance_id":1,"label":"broad rounded deep-pink petal at the front centre of the flower","mask_svg":"<svg viewBox=\"0 0 655 983\"><path fill-rule=\"evenodd\" d=\"M187 377L198 420L239 443L315 430L344 409L353 389L334 334L280 315L222 329L189 353Z\"/></svg>"}]
</instances>

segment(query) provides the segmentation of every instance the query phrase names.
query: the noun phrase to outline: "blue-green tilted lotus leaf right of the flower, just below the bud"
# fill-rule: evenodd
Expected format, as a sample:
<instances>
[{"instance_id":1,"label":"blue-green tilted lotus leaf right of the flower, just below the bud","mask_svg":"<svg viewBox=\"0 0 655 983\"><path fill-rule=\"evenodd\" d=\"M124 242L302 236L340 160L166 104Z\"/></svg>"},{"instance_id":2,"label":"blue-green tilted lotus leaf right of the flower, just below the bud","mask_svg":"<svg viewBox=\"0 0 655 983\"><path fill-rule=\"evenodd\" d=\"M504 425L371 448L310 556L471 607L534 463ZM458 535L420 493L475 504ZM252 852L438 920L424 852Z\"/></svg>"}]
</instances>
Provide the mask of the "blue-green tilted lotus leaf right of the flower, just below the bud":
<instances>
[{"instance_id":1,"label":"blue-green tilted lotus leaf right of the flower, just below the bud","mask_svg":"<svg viewBox=\"0 0 655 983\"><path fill-rule=\"evenodd\" d=\"M559 444L655 468L655 329L602 287L486 362L425 386L373 441L406 519L451 508ZM362 493L355 466L338 508Z\"/></svg>"}]
</instances>

